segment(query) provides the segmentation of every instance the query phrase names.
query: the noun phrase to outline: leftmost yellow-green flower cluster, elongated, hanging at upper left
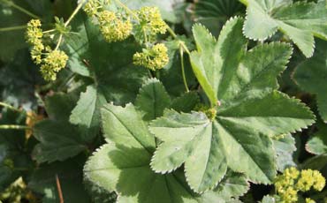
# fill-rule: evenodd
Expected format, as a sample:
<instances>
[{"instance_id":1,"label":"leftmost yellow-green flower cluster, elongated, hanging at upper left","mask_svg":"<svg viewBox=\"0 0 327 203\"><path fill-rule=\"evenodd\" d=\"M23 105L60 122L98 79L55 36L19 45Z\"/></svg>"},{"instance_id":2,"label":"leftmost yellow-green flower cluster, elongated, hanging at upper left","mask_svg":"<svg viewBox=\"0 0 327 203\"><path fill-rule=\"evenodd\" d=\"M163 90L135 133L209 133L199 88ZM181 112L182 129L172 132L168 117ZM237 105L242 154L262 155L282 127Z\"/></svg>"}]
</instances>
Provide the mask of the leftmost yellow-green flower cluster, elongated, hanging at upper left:
<instances>
[{"instance_id":1,"label":"leftmost yellow-green flower cluster, elongated, hanging at upper left","mask_svg":"<svg viewBox=\"0 0 327 203\"><path fill-rule=\"evenodd\" d=\"M27 42L32 45L31 56L35 64L41 64L42 77L45 80L57 79L57 72L65 68L68 56L64 51L52 50L42 43L42 29L39 19L32 19L27 24Z\"/></svg>"}]
</instances>

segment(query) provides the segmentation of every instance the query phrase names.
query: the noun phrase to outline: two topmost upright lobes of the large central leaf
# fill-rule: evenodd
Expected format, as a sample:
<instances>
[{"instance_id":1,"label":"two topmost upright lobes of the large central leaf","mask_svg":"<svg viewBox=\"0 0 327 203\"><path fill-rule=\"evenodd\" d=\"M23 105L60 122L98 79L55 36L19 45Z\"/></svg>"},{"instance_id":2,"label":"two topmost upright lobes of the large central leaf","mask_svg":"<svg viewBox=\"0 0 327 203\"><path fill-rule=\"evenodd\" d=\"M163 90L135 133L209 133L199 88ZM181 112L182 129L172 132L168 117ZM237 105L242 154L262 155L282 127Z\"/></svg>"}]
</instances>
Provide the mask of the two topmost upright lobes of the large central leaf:
<instances>
[{"instance_id":1,"label":"two topmost upright lobes of the large central leaf","mask_svg":"<svg viewBox=\"0 0 327 203\"><path fill-rule=\"evenodd\" d=\"M219 82L224 76L224 69L233 72L232 68L237 66L244 55L247 40L242 36L241 26L241 19L231 19L221 31L218 41L205 27L193 27L197 51L192 52L190 60L211 105L217 104Z\"/></svg>"}]
</instances>

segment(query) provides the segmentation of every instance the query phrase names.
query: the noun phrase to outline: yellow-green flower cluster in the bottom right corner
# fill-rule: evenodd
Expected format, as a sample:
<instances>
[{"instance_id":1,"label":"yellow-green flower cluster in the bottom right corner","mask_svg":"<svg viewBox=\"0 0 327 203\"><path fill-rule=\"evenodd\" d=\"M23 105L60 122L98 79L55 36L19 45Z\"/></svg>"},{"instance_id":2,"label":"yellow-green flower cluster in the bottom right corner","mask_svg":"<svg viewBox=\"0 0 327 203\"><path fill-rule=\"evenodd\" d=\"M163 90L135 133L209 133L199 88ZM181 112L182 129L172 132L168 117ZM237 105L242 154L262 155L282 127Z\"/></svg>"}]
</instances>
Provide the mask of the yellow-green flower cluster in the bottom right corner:
<instances>
[{"instance_id":1,"label":"yellow-green flower cluster in the bottom right corner","mask_svg":"<svg viewBox=\"0 0 327 203\"><path fill-rule=\"evenodd\" d=\"M285 169L284 174L275 180L276 191L282 203L293 203L298 201L298 192L308 192L311 188L322 191L325 179L317 170L303 169L299 171L295 168ZM315 202L306 199L306 202Z\"/></svg>"}]
</instances>

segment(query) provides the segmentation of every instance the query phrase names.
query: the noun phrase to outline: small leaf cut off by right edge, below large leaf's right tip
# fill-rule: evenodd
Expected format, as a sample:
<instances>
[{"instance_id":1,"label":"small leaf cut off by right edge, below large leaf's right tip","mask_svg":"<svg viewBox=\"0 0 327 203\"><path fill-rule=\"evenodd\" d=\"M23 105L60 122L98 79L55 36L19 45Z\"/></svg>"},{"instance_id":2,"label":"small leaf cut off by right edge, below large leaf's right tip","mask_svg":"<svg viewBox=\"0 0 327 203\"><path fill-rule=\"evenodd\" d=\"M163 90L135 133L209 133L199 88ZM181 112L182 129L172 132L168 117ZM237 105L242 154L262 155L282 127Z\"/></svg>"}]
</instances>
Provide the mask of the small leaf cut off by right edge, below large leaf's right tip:
<instances>
[{"instance_id":1,"label":"small leaf cut off by right edge, below large leaf's right tip","mask_svg":"<svg viewBox=\"0 0 327 203\"><path fill-rule=\"evenodd\" d=\"M318 129L319 131L308 140L306 150L311 154L327 154L327 125L318 124Z\"/></svg>"}]
</instances>

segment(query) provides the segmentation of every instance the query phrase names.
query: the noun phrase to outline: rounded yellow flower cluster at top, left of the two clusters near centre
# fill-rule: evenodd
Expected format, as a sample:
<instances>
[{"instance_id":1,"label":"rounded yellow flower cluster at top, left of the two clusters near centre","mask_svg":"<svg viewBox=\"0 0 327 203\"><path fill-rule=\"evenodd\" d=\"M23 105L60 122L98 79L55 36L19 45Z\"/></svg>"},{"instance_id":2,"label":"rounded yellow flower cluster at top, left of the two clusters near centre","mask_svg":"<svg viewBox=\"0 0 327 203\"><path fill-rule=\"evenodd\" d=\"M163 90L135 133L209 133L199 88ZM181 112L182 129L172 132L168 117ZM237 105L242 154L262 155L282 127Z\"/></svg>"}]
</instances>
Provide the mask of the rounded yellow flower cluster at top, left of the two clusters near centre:
<instances>
[{"instance_id":1,"label":"rounded yellow flower cluster at top, left of the two clusters near centre","mask_svg":"<svg viewBox=\"0 0 327 203\"><path fill-rule=\"evenodd\" d=\"M103 37L108 42L124 41L133 29L133 25L128 18L112 11L101 11L98 14L100 30Z\"/></svg>"}]
</instances>

